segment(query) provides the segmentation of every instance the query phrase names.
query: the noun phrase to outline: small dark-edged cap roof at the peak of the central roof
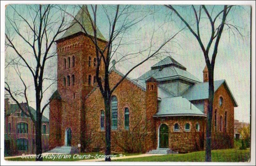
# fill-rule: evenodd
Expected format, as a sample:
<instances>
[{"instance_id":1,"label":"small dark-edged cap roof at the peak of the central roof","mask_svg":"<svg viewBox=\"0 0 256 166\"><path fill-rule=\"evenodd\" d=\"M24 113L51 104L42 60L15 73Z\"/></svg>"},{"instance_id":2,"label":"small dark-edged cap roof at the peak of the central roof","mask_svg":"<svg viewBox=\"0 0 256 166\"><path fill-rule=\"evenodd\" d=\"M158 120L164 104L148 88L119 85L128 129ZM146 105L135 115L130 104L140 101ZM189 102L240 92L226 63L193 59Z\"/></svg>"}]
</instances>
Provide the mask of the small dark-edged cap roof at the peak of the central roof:
<instances>
[{"instance_id":1,"label":"small dark-edged cap roof at the peak of the central roof","mask_svg":"<svg viewBox=\"0 0 256 166\"><path fill-rule=\"evenodd\" d=\"M162 68L162 67L168 67L168 66L175 66L179 67L180 69L186 70L186 67L181 65L179 62L174 60L171 56L168 56L161 60L160 62L156 63L151 67L151 69L156 69L156 68Z\"/></svg>"}]
</instances>

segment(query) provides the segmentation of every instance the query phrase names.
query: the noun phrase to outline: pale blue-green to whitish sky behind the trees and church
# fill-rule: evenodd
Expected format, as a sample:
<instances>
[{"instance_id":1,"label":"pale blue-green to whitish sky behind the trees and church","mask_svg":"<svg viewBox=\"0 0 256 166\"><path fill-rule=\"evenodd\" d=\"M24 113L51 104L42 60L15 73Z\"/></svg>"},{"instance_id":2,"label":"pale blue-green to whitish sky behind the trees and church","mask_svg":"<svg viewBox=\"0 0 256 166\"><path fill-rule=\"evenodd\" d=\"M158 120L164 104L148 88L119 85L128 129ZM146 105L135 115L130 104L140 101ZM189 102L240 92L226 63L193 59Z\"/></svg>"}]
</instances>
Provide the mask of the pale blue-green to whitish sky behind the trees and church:
<instances>
[{"instance_id":1,"label":"pale blue-green to whitish sky behind the trees and church","mask_svg":"<svg viewBox=\"0 0 256 166\"><path fill-rule=\"evenodd\" d=\"M66 8L66 12L76 15L78 8L73 5L62 6ZM122 9L124 6L120 6ZM195 29L195 15L193 9L190 5L175 5L174 6L178 12L192 25L192 28ZM198 9L199 6L195 6ZM212 16L216 15L219 11L223 9L222 5L206 5L206 8L212 12ZM28 17L26 6L17 5L17 11L19 11L25 17ZM106 9L109 12L110 18L114 16L114 10L112 6L106 6ZM212 10L213 9L213 10ZM57 9L56 9L57 10ZM227 23L236 25L239 32L242 36L234 31L228 30L227 27L224 28L222 33L218 54L215 61L214 68L214 80L225 79L228 83L228 86L236 99L238 107L235 107L235 119L244 122L250 122L250 24L251 24L251 8L250 6L234 6L230 11ZM89 10L92 13L92 10ZM181 28L184 28L185 25L180 21L179 18L174 13L171 13L169 9L162 5L149 6L149 5L137 5L129 9L128 12L133 12L129 15L130 19L137 18L141 15L148 14L142 21L137 23L135 26L132 26L124 34L123 43L133 41L131 44L124 44L123 47L118 49L120 55L125 55L127 53L137 52L148 48L150 43L154 43L152 50L156 49L170 36L177 33ZM149 11L149 13L148 13ZM6 13L9 15L13 14L12 8L7 6ZM105 38L108 39L108 21L105 13L103 12L102 6L99 6L97 9L97 26L100 29L101 33ZM204 45L208 43L211 26L209 20L206 18L204 12L202 12L202 19L200 21L200 35ZM58 18L58 12L52 14L52 18ZM67 20L71 18L67 16ZM120 17L120 20L124 20L125 17ZM219 19L217 19L218 23ZM20 31L25 31L26 28L23 24L19 25ZM6 21L7 29L13 33L13 30ZM120 27L120 24L117 24L117 27ZM31 54L28 54L27 50L29 47L21 42L19 36L14 36L13 43L17 45L19 51L24 52L24 55L28 59L31 65L34 61L31 58ZM61 34L60 34L61 36ZM59 37L60 37L59 36ZM212 45L213 46L213 45ZM56 46L52 48L52 51L56 50ZM165 56L171 55L176 61L187 68L187 71L196 76L199 80L203 81L203 69L205 66L203 52L195 38L188 29L182 30L175 39L171 40L168 44L164 46L164 51L166 53L158 56L157 59L148 60L136 69L134 69L129 77L138 78L140 75L144 74L150 67L157 63L160 59L163 59ZM143 51L139 56L132 57L116 64L116 69L122 73L126 73L134 65L138 64L142 59L145 59L148 50ZM212 53L212 49L210 49ZM120 59L119 54L115 55L116 60ZM10 60L13 57L17 57L15 52L7 48L5 50L6 60ZM211 58L211 57L210 57ZM51 63L47 65L47 70L45 76L54 77L57 75L57 58L54 57L51 59ZM32 77L28 69L21 68L22 77L26 78L26 83L32 85ZM5 81L9 82L14 89L20 89L22 87L21 82L19 81L15 71L12 68L7 68L5 70ZM51 82L46 82L46 85L49 85ZM43 104L51 97L53 91L57 88L54 84L49 90L44 94ZM35 102L33 101L34 89L33 86L29 87L29 105L35 108ZM25 102L25 99L18 98L19 101ZM49 117L49 111L45 111L44 115Z\"/></svg>"}]
</instances>

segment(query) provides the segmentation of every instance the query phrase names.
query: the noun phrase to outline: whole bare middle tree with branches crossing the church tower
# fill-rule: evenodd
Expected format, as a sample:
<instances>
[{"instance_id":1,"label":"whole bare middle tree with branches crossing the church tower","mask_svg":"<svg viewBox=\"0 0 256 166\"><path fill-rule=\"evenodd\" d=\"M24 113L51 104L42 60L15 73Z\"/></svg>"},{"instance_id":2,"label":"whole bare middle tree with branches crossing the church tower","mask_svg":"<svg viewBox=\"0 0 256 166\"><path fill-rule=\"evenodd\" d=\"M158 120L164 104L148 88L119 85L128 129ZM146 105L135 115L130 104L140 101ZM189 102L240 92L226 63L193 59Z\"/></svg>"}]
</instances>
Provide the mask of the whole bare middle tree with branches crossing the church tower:
<instances>
[{"instance_id":1,"label":"whole bare middle tree with branches crossing the church tower","mask_svg":"<svg viewBox=\"0 0 256 166\"><path fill-rule=\"evenodd\" d=\"M143 14L137 14L134 15L134 13L138 13L138 10L134 9L135 6L133 5L100 5L103 12L100 12L99 14L106 17L106 20L108 22L108 41L106 45L102 47L102 44L100 44L100 40L98 38L98 35L100 34L98 32L97 28L97 12L98 12L98 5L83 5L79 6L81 10L84 10L85 13L88 14L88 17L90 18L90 23L93 29L93 34L90 34L85 26L83 25L83 22L80 20L77 20L75 16L72 16L74 20L82 27L84 30L84 33L86 36L90 38L92 43L95 46L95 54L97 58L97 65L96 65L96 80L101 92L101 95L104 99L104 106L105 106L105 155L111 154L111 118L110 118L110 102L111 102L111 94L113 91L116 90L118 85L124 81L124 79L129 75L133 69L140 66L144 62L146 62L148 59L152 59L156 57L159 54L165 53L164 46L170 42L172 39L175 38L175 36L182 31L176 32L173 34L172 37L166 37L164 38L164 41L159 44L159 42L153 41L154 32L151 37L151 41L149 42L149 46L145 49L140 49L140 51L134 51L134 52L128 52L125 54L121 54L118 52L118 50L122 47L127 47L129 44L135 44L138 42L138 39L135 38L127 41L127 38L125 38L126 34L129 33L129 30L136 26L138 23L140 23L145 17L148 15L151 15L152 12L150 9L145 10ZM90 8L93 13L93 18L91 18L89 14ZM141 12L141 11L140 11ZM72 14L69 14L72 15ZM110 87L109 85L109 71L113 66L115 66L115 63L129 60L134 57L141 57L143 60L141 60L139 63L135 64L131 69L129 69L126 74L122 76L120 80L113 86ZM119 57L119 58L117 58ZM103 61L103 64L100 63ZM115 62L112 66L111 62ZM104 77L100 78L100 64L104 68ZM111 161L110 157L106 157L105 161Z\"/></svg>"}]
</instances>

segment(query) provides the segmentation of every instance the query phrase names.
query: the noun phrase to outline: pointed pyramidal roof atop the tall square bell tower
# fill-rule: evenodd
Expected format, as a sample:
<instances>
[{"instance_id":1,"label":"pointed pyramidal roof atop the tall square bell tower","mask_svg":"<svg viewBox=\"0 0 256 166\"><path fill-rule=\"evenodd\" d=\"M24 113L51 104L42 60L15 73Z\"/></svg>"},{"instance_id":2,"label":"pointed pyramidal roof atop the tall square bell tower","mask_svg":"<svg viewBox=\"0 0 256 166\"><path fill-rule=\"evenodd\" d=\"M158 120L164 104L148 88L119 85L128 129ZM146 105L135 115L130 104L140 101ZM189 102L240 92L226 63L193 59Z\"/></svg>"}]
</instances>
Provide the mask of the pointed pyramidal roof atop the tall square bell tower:
<instances>
[{"instance_id":1,"label":"pointed pyramidal roof atop the tall square bell tower","mask_svg":"<svg viewBox=\"0 0 256 166\"><path fill-rule=\"evenodd\" d=\"M91 15L90 15L89 11L85 7L85 5L83 5L82 8L76 14L75 19L70 23L69 26L71 26L71 27L68 28L66 30L66 32L58 40L63 39L63 38L68 37L68 36L71 36L71 35L74 35L78 32L85 33L84 29L86 30L86 33L88 35L94 36L94 32L93 32L93 28L92 28L90 18L91 18ZM84 29L81 27L81 25L77 21L79 21L83 25ZM106 41L106 39L101 34L98 27L96 27L96 28L97 28L97 38Z\"/></svg>"}]
</instances>

